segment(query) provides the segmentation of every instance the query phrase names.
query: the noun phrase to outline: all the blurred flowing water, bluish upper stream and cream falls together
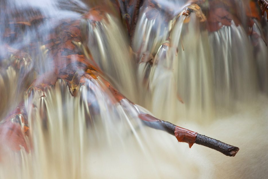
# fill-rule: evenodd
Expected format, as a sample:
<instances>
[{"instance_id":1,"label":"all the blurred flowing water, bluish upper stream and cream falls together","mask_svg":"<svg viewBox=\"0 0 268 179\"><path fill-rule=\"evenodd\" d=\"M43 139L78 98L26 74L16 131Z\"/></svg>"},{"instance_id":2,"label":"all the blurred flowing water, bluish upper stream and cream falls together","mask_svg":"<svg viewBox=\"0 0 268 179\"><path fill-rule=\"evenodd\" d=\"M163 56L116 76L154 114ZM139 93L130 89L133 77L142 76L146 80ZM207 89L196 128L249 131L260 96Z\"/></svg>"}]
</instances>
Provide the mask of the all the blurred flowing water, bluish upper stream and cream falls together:
<instances>
[{"instance_id":1,"label":"all the blurred flowing water, bluish upper stream and cream falls together","mask_svg":"<svg viewBox=\"0 0 268 179\"><path fill-rule=\"evenodd\" d=\"M237 9L248 5L234 2ZM218 30L206 29L202 22L209 15L199 6L184 16L187 2L159 1L162 10L152 13L144 1L130 49L121 18L108 1L101 3L0 2L0 120L23 103L31 148L1 151L0 178L267 178L268 48L263 39L268 24L254 19L257 38L248 36L241 10L237 16L242 23L232 20ZM111 13L81 20L99 4ZM43 16L42 23L32 20L35 16ZM64 41L67 22L77 20L82 42L73 42L74 47L103 74L70 89L73 77L59 78L44 89L31 85L50 78L49 72L64 60L79 60L65 48L55 62L53 53L58 52L47 46L53 33L60 34L53 43ZM10 53L14 49L23 53L17 57ZM116 103L105 80L137 105L126 99ZM138 110L240 151L230 158L198 145L189 149L174 136L144 126ZM25 114L12 120L23 123ZM0 141L8 135L0 134Z\"/></svg>"}]
</instances>

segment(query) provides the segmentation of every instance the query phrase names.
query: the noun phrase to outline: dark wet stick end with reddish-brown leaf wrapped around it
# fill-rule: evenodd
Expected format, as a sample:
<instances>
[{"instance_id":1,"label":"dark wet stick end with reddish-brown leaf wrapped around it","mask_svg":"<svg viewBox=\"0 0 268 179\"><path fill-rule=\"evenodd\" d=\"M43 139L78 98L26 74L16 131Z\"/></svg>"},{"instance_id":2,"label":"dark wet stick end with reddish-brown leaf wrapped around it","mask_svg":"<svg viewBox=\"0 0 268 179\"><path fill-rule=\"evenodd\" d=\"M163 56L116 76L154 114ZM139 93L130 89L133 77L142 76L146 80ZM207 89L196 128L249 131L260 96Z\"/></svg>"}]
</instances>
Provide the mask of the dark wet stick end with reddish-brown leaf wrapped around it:
<instances>
[{"instance_id":1,"label":"dark wet stick end with reddish-brown leaf wrapped around it","mask_svg":"<svg viewBox=\"0 0 268 179\"><path fill-rule=\"evenodd\" d=\"M146 113L141 113L139 115L139 118L143 120L144 124L146 124L147 126L155 128L155 129L164 130L168 132L169 134L174 135L179 142L188 143L190 148L192 147L194 143L196 143L199 145L203 145L205 147L209 147L216 151L219 151L223 153L224 155L227 155L230 157L234 157L236 153L239 151L238 147L234 147L232 145L223 143L214 138L210 138L210 137L198 134L197 132L193 132L191 130L181 128L170 122L159 120Z\"/></svg>"}]
</instances>

